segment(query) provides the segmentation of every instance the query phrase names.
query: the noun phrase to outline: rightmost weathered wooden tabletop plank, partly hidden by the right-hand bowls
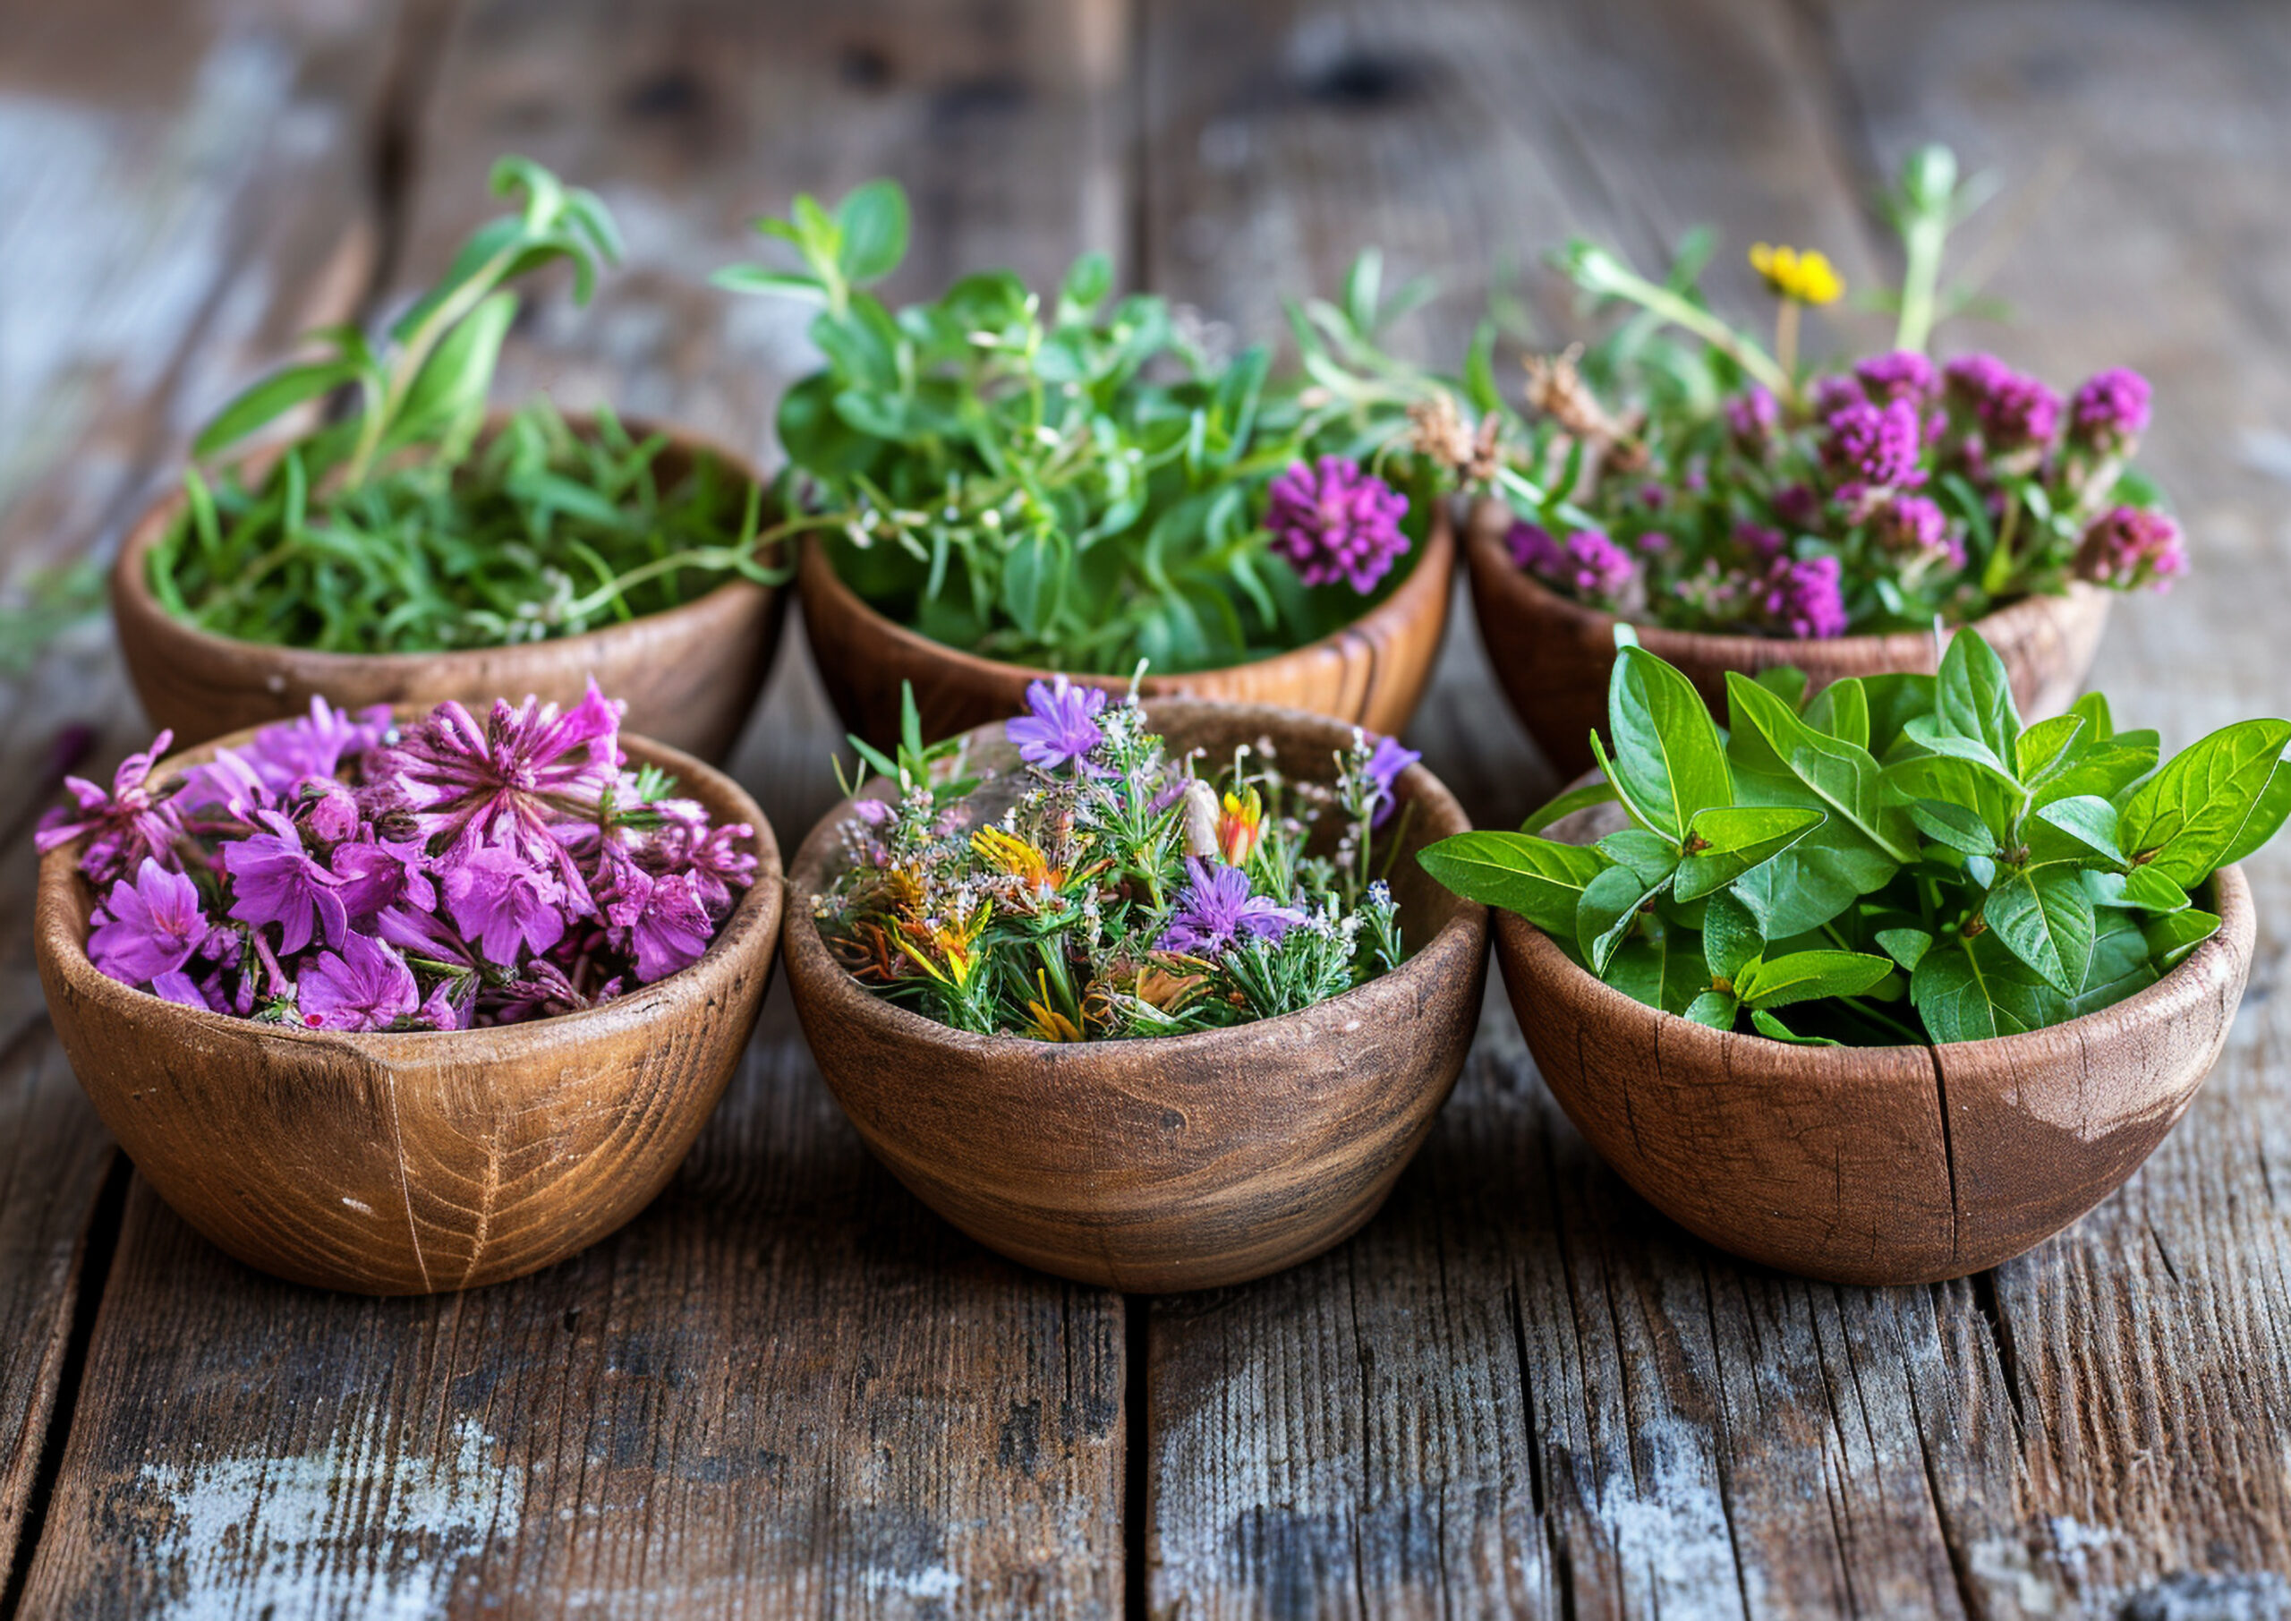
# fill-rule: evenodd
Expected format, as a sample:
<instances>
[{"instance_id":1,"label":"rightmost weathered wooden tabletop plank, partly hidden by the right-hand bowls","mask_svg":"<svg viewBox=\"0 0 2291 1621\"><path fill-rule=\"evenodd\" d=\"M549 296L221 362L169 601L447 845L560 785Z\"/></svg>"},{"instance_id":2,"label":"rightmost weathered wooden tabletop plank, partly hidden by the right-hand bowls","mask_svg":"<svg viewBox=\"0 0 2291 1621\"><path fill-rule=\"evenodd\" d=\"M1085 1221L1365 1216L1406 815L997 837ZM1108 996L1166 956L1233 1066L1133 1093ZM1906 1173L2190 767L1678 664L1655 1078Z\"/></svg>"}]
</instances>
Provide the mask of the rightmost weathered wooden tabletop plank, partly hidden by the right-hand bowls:
<instances>
[{"instance_id":1,"label":"rightmost weathered wooden tabletop plank, partly hidden by the right-hand bowls","mask_svg":"<svg viewBox=\"0 0 2291 1621\"><path fill-rule=\"evenodd\" d=\"M1831 48L1865 163L1931 133L2021 188L1993 211L2009 328L1963 326L2073 383L2133 365L2156 383L2144 463L2179 498L2197 571L2128 603L2099 679L2165 745L2284 706L2277 431L2291 410L2291 25L2227 5L1945 5L1915 21L1842 5ZM2131 96L2151 115L2126 117ZM1984 252L1975 245L1975 252ZM2179 1130L2121 1195L2005 1266L1995 1316L2025 1415L2030 1502L1986 1550L1984 1603L2057 1573L2089 1612L2291 1610L2291 855L2250 864L2259 949L2243 1016Z\"/></svg>"}]
</instances>

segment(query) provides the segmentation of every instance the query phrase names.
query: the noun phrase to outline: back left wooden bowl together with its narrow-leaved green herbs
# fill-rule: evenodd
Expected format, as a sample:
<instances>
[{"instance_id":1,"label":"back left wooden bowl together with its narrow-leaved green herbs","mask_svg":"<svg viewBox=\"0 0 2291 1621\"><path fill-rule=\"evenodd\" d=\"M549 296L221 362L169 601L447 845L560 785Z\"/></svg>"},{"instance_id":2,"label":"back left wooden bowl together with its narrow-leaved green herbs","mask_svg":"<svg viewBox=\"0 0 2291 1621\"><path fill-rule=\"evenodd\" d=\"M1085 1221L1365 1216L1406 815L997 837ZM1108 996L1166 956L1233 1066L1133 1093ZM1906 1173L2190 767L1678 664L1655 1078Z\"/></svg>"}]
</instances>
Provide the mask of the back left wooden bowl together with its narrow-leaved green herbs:
<instances>
[{"instance_id":1,"label":"back left wooden bowl together with its narrow-leaved green herbs","mask_svg":"<svg viewBox=\"0 0 2291 1621\"><path fill-rule=\"evenodd\" d=\"M515 213L481 227L378 342L325 353L227 404L183 488L128 534L112 614L144 711L186 738L302 713L314 697L577 704L593 676L632 729L722 759L779 642L788 569L767 493L694 433L488 413L511 282L570 261L586 303L619 257L605 206L506 158ZM312 401L341 410L243 452Z\"/></svg>"}]
</instances>

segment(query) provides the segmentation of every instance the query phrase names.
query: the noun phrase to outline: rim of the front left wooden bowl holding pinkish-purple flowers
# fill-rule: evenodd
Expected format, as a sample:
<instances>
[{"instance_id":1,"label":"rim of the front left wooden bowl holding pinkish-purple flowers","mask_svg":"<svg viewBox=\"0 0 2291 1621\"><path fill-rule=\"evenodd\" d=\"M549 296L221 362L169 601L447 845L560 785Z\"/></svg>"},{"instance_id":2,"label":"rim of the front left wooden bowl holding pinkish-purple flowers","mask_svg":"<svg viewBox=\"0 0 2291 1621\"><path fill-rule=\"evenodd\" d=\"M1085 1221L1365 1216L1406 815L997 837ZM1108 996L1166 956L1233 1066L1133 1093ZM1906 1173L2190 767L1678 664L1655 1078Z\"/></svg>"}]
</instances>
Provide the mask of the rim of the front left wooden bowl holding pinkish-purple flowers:
<instances>
[{"instance_id":1,"label":"rim of the front left wooden bowl holding pinkish-purple flowers","mask_svg":"<svg viewBox=\"0 0 2291 1621\"><path fill-rule=\"evenodd\" d=\"M394 713L399 720L408 720L426 715L428 706L396 704ZM261 729L263 727L243 727L220 738L197 743L188 750L176 750L151 766L151 777L160 782L179 777L183 770L213 759L215 750L241 745ZM218 1034L316 1048L348 1046L373 1059L387 1059L399 1052L410 1057L412 1048L419 1048L424 1059L451 1062L463 1057L465 1062L488 1062L497 1057L497 1052L488 1052L488 1048L499 1046L497 1039L502 1036L511 1036L520 1043L543 1041L545 1036L577 1041L600 1023L644 1023L653 1013L669 1011L669 1007L690 1000L690 993L719 979L740 958L751 956L756 949L770 952L777 945L781 915L786 910L786 871L779 858L779 837L774 835L770 819L747 789L731 780L729 773L722 773L683 750L644 736L623 731L619 743L630 761L662 766L676 775L678 784L699 782L713 796L722 798L735 812L731 821L745 821L751 828L749 844L756 853L756 878L740 892L740 899L733 903L731 913L726 913L724 922L717 924L715 935L708 940L708 949L696 963L687 963L674 974L664 974L648 986L632 986L598 1007L586 1007L573 1013L554 1013L550 1018L520 1020L515 1025L488 1025L483 1029L302 1029L296 1025L266 1025L252 1018L236 1018L204 1007L170 1002L163 995L112 979L96 968L92 956L87 956L89 922L85 913L94 910L99 896L94 894L94 883L80 874L78 858L80 846L87 841L85 835L71 844L60 844L39 858L39 887L32 924L37 952L53 963L55 972L73 990L78 990L89 1007L96 1009L108 1004L115 1011L126 1009L135 1016L149 1016L156 1009L167 1009L167 1013L160 1013L163 1018L181 1016L192 1027L213 1029ZM401 1043L412 1043L412 1048Z\"/></svg>"}]
</instances>

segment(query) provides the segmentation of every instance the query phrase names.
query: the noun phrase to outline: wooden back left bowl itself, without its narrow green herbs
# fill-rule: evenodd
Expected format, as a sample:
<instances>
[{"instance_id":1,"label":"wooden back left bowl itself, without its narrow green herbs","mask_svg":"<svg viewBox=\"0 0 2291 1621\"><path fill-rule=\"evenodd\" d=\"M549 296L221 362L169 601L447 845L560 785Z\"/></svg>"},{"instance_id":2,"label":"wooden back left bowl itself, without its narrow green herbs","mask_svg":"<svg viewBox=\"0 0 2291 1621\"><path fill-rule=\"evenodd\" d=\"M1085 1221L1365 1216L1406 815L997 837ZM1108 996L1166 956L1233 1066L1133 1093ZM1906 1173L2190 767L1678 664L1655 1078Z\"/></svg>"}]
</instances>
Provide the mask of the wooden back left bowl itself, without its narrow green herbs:
<instances>
[{"instance_id":1,"label":"wooden back left bowl itself, without its narrow green herbs","mask_svg":"<svg viewBox=\"0 0 2291 1621\"><path fill-rule=\"evenodd\" d=\"M575 426L582 424L575 420ZM745 456L696 433L646 422L630 422L628 429L637 438L669 433L662 465L676 468L708 452L729 470L756 479ZM183 493L174 491L128 532L112 564L112 621L151 725L186 743L305 715L312 697L341 708L415 704L426 711L449 697L477 706L504 692L532 692L570 708L593 674L600 688L628 702L632 734L722 761L756 706L788 610L784 589L735 575L680 608L518 647L316 653L238 642L183 624L151 594L151 548L181 507Z\"/></svg>"}]
</instances>

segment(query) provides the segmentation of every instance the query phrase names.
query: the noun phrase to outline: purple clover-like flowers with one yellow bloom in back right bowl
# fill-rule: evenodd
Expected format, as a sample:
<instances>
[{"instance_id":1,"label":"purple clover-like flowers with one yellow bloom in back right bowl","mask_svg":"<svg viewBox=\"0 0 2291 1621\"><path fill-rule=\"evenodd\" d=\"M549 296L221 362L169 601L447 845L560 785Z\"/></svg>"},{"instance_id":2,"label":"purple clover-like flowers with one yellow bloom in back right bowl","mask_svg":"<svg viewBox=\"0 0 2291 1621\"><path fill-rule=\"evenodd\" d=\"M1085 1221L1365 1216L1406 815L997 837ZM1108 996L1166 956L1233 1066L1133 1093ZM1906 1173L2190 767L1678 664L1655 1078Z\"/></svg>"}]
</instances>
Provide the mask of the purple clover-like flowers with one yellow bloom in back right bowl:
<instances>
[{"instance_id":1,"label":"purple clover-like flowers with one yellow bloom in back right bowl","mask_svg":"<svg viewBox=\"0 0 2291 1621\"><path fill-rule=\"evenodd\" d=\"M1842 293L1821 254L1753 250L1782 312L1769 355L1702 305L1707 243L1663 284L1569 243L1581 287L1645 314L1581 369L1530 367L1542 481L1514 491L1512 559L1624 619L1796 640L1963 624L2078 578L2170 587L2179 525L2128 468L2147 381L2117 367L2062 399L1995 355L1936 365L1940 241L1966 206L1947 151L1913 156L1890 206L1908 248L1895 349L1840 371L1794 355L1798 310Z\"/></svg>"}]
</instances>

